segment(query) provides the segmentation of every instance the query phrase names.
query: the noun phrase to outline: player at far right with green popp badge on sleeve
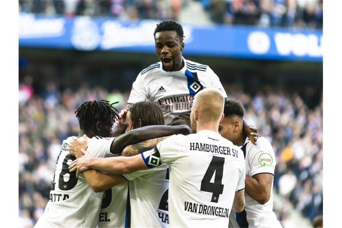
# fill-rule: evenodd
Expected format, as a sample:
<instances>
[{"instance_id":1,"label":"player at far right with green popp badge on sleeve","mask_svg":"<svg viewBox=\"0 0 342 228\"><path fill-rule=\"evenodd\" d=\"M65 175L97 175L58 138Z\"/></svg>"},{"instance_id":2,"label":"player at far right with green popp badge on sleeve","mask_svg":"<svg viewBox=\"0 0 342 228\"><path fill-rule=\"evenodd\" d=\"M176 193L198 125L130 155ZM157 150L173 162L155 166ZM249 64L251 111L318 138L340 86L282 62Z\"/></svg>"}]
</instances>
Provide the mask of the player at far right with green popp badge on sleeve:
<instances>
[{"instance_id":1,"label":"player at far right with green popp badge on sleeve","mask_svg":"<svg viewBox=\"0 0 342 228\"><path fill-rule=\"evenodd\" d=\"M246 160L246 206L241 213L232 212L229 227L281 227L272 211L273 175L275 155L269 141L260 137L254 145L242 133L245 109L240 102L226 99L224 118L220 123L220 134L241 147Z\"/></svg>"}]
</instances>

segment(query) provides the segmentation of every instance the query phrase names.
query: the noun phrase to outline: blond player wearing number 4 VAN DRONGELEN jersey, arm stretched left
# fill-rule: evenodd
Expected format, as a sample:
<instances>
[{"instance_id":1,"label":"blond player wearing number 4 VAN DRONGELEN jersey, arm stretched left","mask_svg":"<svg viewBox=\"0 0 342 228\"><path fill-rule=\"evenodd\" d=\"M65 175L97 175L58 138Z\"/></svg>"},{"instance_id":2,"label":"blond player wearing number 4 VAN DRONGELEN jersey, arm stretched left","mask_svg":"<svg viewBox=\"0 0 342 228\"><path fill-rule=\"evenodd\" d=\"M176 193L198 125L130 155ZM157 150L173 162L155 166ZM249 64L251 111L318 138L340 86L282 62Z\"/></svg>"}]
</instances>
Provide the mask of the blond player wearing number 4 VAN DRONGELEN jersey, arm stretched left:
<instances>
[{"instance_id":1,"label":"blond player wearing number 4 VAN DRONGELEN jersey, arm stretched left","mask_svg":"<svg viewBox=\"0 0 342 228\"><path fill-rule=\"evenodd\" d=\"M82 150L69 169L129 174L168 164L170 227L224 227L232 209L244 209L246 175L243 152L218 132L223 106L220 91L203 89L190 115L195 134L172 136L133 157L92 158Z\"/></svg>"}]
</instances>

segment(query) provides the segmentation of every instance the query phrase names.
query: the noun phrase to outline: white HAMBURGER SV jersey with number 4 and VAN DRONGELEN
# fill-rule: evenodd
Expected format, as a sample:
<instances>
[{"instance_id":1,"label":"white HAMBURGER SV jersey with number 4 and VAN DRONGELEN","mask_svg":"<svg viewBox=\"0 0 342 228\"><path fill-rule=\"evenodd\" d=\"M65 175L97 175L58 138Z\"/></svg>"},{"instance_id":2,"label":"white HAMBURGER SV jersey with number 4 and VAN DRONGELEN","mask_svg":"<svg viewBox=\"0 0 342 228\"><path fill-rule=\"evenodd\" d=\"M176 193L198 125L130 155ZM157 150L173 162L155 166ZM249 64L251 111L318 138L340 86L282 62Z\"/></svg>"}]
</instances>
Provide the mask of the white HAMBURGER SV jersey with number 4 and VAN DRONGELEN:
<instances>
[{"instance_id":1,"label":"white HAMBURGER SV jersey with number 4 and VAN DRONGELEN","mask_svg":"<svg viewBox=\"0 0 342 228\"><path fill-rule=\"evenodd\" d=\"M245 188L241 149L219 133L175 135L141 154L152 168L169 165L170 227L225 227L235 192Z\"/></svg>"}]
</instances>

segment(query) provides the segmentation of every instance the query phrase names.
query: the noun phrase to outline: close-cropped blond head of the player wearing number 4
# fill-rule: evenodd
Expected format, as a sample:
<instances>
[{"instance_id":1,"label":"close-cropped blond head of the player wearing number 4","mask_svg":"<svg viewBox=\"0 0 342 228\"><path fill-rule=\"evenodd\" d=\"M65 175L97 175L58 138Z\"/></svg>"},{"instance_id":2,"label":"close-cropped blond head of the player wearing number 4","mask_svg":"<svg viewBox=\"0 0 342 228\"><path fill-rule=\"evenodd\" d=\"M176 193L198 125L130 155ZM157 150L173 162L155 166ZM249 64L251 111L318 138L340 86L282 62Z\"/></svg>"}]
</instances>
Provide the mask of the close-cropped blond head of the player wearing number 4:
<instances>
[{"instance_id":1,"label":"close-cropped blond head of the player wearing number 4","mask_svg":"<svg viewBox=\"0 0 342 228\"><path fill-rule=\"evenodd\" d=\"M196 132L197 125L218 125L223 119L224 97L217 89L203 89L195 95L191 109L191 127Z\"/></svg>"}]
</instances>

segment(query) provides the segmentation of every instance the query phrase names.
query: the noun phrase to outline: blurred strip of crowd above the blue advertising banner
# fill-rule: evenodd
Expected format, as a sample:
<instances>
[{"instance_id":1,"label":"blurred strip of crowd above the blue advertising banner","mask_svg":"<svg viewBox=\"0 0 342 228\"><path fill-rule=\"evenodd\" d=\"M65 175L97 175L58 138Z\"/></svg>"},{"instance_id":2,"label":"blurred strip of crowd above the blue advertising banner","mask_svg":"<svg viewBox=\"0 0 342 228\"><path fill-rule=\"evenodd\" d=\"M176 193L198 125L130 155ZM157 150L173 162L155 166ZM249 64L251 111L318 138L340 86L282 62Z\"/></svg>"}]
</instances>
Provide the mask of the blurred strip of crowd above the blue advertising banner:
<instances>
[{"instance_id":1,"label":"blurred strip of crowd above the blue advertising banner","mask_svg":"<svg viewBox=\"0 0 342 228\"><path fill-rule=\"evenodd\" d=\"M201 10L215 24L323 26L323 0L19 0L19 12L67 17L110 16L123 20L175 19L183 23L182 9L194 2L200 3Z\"/></svg>"}]
</instances>

